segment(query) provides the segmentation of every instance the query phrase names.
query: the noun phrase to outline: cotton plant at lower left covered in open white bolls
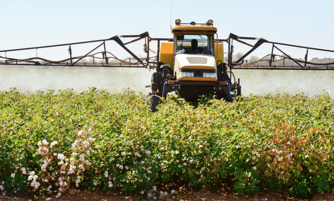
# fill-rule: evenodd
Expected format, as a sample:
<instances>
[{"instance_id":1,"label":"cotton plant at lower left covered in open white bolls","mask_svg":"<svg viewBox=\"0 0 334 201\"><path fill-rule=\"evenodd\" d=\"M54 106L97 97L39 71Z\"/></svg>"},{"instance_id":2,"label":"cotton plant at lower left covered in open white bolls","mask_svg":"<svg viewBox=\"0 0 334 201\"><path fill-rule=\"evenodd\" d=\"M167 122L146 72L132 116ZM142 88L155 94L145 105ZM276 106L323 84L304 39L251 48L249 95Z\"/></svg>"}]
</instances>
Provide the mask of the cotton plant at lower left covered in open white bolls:
<instances>
[{"instance_id":1,"label":"cotton plant at lower left covered in open white bolls","mask_svg":"<svg viewBox=\"0 0 334 201\"><path fill-rule=\"evenodd\" d=\"M75 186L79 187L83 178L83 172L89 170L92 163L89 161L91 155L91 147L95 138L89 137L91 128L84 126L84 130L76 133L77 139L72 143L69 154L67 152L58 153L56 150L57 141L52 143L44 139L38 142L37 154L41 155L41 178L30 172L29 179L31 186L38 187L40 182L47 186L46 190L51 193L58 190L56 197L61 196L69 188L70 183L75 182ZM48 147L49 145L49 147ZM28 179L28 180L29 180ZM29 180L29 181L30 181ZM47 183L50 182L50 185Z\"/></svg>"}]
</instances>

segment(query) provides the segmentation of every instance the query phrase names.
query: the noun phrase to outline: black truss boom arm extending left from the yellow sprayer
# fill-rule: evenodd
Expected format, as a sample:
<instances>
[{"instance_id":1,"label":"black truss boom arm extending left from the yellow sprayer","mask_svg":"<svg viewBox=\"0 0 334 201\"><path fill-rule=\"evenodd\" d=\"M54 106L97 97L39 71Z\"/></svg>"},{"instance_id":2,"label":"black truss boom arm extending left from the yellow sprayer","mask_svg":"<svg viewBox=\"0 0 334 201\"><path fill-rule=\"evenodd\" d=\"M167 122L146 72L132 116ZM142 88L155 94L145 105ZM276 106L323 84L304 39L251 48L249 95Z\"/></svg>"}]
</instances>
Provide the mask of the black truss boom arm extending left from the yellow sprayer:
<instances>
[{"instance_id":1,"label":"black truss boom arm extending left from the yellow sprayer","mask_svg":"<svg viewBox=\"0 0 334 201\"><path fill-rule=\"evenodd\" d=\"M136 39L123 43L123 41L120 39L120 37L122 38L128 38L128 37L134 37ZM144 51L147 54L146 58L138 58L129 48L127 48L125 45L144 39L145 38L145 44L144 44ZM127 58L129 59L129 61L126 60L120 60L118 59L115 55L113 55L110 52L107 52L106 50L106 41L110 41L113 40L115 41L117 44L119 44L126 52L128 52L132 58L134 58L135 62L131 62L132 58ZM158 43L160 42L160 40L170 40L167 38L151 38L149 36L148 32L144 32L142 34L139 35L121 35L121 36L113 36L109 39L102 39L102 40L92 40L92 41L85 41L85 42L75 42L75 43L67 43L67 44L58 44L58 45L48 45L48 46L39 46L39 47L29 47L29 48L20 48L20 49L9 49L9 50L3 50L0 51L0 53L5 53L5 57L0 56L0 65L38 65L38 66L69 66L69 67L74 67L74 66L88 66L88 67L135 67L135 68L155 68L156 64L157 64L157 56L153 56L153 57L149 57L149 52L153 52L150 47L149 47L149 42L151 40L157 40ZM147 41L147 42L146 42ZM94 43L94 42L102 42L101 44L99 44L98 46L96 46L92 51L88 52L87 54L85 54L84 56L80 56L80 57L72 57L72 48L71 45L78 45L78 44L85 44L85 43ZM104 47L104 51L103 52L98 52L98 53L94 53L93 52L98 49L99 47L101 47L103 45ZM50 47L59 47L59 46L68 46L68 54L69 54L69 58L64 59L64 60L60 60L60 61L51 61L51 60L47 60L47 59L43 59L43 58L39 58L37 57L37 49L43 49L43 48L50 48ZM28 59L18 59L18 58L12 58L12 57L7 57L6 53L7 52L15 52L15 51L24 51L24 50L28 50L28 49L36 49L36 57L33 58L28 58ZM159 49L159 47L158 47ZM98 58L95 55L96 54L101 54L102 53L102 58ZM107 53L109 53L111 55L111 57L107 56ZM93 58L93 62L85 62L82 59L84 58ZM1 60L2 59L2 60ZM95 62L94 59L103 59L104 62ZM119 63L110 63L108 60L109 59L115 59L120 61ZM40 60L40 61L38 61Z\"/></svg>"}]
</instances>

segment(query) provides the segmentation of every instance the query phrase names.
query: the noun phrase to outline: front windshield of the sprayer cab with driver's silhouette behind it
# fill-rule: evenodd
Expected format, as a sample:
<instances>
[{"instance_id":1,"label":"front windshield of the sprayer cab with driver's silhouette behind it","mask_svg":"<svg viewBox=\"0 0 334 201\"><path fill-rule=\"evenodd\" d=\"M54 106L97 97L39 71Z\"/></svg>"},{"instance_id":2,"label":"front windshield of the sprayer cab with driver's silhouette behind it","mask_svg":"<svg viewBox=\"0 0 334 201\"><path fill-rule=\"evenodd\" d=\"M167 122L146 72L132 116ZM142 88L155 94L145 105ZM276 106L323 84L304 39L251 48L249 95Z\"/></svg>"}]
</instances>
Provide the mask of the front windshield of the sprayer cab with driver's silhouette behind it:
<instances>
[{"instance_id":1,"label":"front windshield of the sprayer cab with driver's silhouette behind it","mask_svg":"<svg viewBox=\"0 0 334 201\"><path fill-rule=\"evenodd\" d=\"M175 34L174 54L214 55L213 34Z\"/></svg>"}]
</instances>

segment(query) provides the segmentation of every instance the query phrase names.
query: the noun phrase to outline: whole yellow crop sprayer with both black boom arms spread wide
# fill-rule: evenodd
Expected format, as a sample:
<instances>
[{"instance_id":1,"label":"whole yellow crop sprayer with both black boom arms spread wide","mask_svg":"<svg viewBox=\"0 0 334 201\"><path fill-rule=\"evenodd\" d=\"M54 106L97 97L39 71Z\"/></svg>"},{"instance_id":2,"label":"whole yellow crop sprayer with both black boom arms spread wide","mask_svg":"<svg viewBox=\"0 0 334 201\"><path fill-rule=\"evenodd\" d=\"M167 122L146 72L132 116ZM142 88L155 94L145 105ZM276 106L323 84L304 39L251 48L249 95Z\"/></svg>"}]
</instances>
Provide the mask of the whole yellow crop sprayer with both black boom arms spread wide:
<instances>
[{"instance_id":1,"label":"whole yellow crop sprayer with both black boom arms spread wide","mask_svg":"<svg viewBox=\"0 0 334 201\"><path fill-rule=\"evenodd\" d=\"M67 66L67 67L134 67L155 69L156 72L152 75L151 87L152 93L146 97L151 100L151 109L156 111L160 98L166 98L169 92L175 91L185 101L196 101L200 96L212 94L218 99L224 99L228 102L233 101L235 96L241 96L240 80L235 80L232 73L233 68L238 69L268 69L268 70L334 70L334 63L315 64L307 62L308 50L314 49L319 51L333 52L331 50L311 48L284 43L270 42L263 38L255 37L239 37L230 33L227 39L218 39L217 28L213 26L213 21L208 20L204 24L196 24L195 22L181 23L181 20L175 20L175 26L171 28L173 38L151 38L148 32L139 35L121 35L114 36L109 39L94 40L86 42L76 42L59 45L49 45L22 49L11 49L0 51L5 53L5 57L0 56L1 65L37 65L37 66ZM136 39L123 43L121 38L134 37ZM146 58L138 58L125 45L145 39L144 51L147 54ZM254 45L244 42L244 39L258 40ZM107 52L106 42L115 41L123 47L132 58L120 60L110 52ZM249 50L237 61L232 61L233 40L251 46ZM150 49L150 42L157 41L157 52ZM71 45L79 45L83 43L102 42L92 51L84 56L72 57ZM227 63L224 61L223 42L228 44ZM268 65L256 65L256 62L244 64L244 59L251 54L256 48L263 43L272 44L272 52ZM305 60L297 60L291 58L284 53L277 45L286 45L306 49ZM51 48L56 46L68 46L69 58L61 61L50 61L37 57L37 49ZM100 46L103 46L102 52L93 53ZM283 61L289 60L296 66L276 65L274 48L282 53ZM26 49L36 49L36 57L28 59L17 59L7 57L7 52L22 51ZM156 54L150 57L150 52ZM107 54L108 53L108 54ZM102 54L102 57L97 55ZM93 58L93 62L87 62L84 58ZM102 59L100 62L95 62L95 59ZM110 61L113 59L113 61ZM131 62L135 60L135 62ZM115 62L117 60L117 62ZM226 59L225 59L226 60ZM83 62L84 61L84 62Z\"/></svg>"}]
</instances>

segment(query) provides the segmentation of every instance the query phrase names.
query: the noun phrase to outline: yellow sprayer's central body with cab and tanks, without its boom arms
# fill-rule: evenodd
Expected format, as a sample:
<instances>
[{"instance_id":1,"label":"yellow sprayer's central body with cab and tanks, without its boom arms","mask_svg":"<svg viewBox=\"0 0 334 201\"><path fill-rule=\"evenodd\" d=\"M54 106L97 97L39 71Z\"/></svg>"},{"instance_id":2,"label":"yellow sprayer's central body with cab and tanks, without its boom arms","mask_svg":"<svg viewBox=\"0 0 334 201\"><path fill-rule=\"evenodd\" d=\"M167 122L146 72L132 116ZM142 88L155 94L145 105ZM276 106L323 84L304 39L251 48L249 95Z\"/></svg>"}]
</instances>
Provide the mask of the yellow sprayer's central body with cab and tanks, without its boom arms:
<instances>
[{"instance_id":1,"label":"yellow sprayer's central body with cab and tanks, without its boom arms","mask_svg":"<svg viewBox=\"0 0 334 201\"><path fill-rule=\"evenodd\" d=\"M185 101L196 101L212 94L233 100L232 91L241 95L241 87L231 82L226 72L222 42L218 42L213 21L205 24L181 23L172 27L173 42L162 42L157 72L152 75L152 94L167 97L175 91Z\"/></svg>"}]
</instances>

